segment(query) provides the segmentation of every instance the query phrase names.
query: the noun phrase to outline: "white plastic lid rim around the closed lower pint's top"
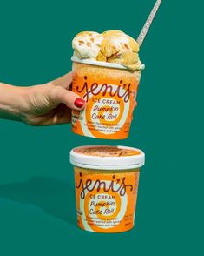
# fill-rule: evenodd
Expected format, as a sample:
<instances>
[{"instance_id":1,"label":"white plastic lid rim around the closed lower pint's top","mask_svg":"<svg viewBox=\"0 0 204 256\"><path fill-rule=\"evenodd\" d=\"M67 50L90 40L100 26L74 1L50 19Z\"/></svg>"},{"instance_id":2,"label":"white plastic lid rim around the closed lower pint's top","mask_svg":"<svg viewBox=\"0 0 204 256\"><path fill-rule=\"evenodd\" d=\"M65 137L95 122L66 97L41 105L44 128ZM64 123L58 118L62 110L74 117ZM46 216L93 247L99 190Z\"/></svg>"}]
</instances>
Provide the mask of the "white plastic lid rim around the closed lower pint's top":
<instances>
[{"instance_id":1,"label":"white plastic lid rim around the closed lower pint's top","mask_svg":"<svg viewBox=\"0 0 204 256\"><path fill-rule=\"evenodd\" d=\"M73 148L70 152L70 163L77 167L95 170L129 170L139 168L145 163L144 152L129 146L116 145L118 148L134 150L140 152L140 154L127 157L97 157L75 152L79 148L103 146L110 145L84 145Z\"/></svg>"}]
</instances>

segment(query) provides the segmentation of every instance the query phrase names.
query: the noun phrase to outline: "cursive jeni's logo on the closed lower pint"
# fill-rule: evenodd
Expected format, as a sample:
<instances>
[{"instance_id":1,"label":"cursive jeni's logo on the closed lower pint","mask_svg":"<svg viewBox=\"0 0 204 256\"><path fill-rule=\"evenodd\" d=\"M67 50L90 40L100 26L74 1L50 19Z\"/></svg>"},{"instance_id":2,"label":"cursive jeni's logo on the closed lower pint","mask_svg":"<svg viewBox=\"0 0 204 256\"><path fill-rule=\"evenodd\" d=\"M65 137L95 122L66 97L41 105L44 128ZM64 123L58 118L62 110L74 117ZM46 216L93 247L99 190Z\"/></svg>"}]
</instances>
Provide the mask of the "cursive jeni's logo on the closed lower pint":
<instances>
[{"instance_id":1,"label":"cursive jeni's logo on the closed lower pint","mask_svg":"<svg viewBox=\"0 0 204 256\"><path fill-rule=\"evenodd\" d=\"M100 179L92 180L87 179L86 181L83 181L82 179L82 172L80 172L80 180L79 184L76 183L76 189L82 188L82 191L80 193L81 199L85 199L86 192L92 192L96 190L97 192L100 192L101 190L103 192L118 192L120 196L124 196L126 194L127 188L129 188L130 191L133 191L132 185L125 184L125 177L122 179L118 178L116 179L116 176L112 176L112 180L109 183L109 185Z\"/></svg>"}]
</instances>

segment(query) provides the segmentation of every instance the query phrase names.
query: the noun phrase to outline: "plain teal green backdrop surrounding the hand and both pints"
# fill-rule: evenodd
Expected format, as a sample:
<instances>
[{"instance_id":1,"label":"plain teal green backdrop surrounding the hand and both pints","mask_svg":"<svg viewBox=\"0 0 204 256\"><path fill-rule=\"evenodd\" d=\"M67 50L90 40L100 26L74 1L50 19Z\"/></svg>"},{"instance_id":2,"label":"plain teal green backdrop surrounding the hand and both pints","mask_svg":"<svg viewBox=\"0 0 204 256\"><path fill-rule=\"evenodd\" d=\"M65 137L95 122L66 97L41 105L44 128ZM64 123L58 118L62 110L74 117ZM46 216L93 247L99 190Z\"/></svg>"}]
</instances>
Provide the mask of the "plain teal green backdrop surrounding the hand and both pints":
<instances>
[{"instance_id":1,"label":"plain teal green backdrop surrounding the hand and both pints","mask_svg":"<svg viewBox=\"0 0 204 256\"><path fill-rule=\"evenodd\" d=\"M42 84L70 71L81 30L137 37L153 0L1 1L0 81ZM141 47L146 64L127 140L83 138L70 125L0 120L0 255L203 255L203 37L201 1L163 1ZM146 152L135 228L76 227L76 145L130 145Z\"/></svg>"}]
</instances>

